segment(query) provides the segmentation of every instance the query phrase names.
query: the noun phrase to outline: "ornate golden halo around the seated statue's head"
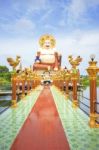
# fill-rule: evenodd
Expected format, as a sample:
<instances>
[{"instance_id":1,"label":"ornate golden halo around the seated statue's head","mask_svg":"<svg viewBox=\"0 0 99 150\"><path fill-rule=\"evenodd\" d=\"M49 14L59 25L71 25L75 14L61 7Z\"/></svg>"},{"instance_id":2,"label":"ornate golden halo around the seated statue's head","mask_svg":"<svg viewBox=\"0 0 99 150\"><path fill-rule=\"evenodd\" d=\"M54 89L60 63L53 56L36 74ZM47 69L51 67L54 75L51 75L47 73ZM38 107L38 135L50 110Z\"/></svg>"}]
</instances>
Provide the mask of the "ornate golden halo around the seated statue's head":
<instances>
[{"instance_id":1,"label":"ornate golden halo around the seated statue's head","mask_svg":"<svg viewBox=\"0 0 99 150\"><path fill-rule=\"evenodd\" d=\"M41 47L43 47L46 40L49 40L51 42L51 48L55 47L56 40L52 35L49 34L45 34L40 37L39 44Z\"/></svg>"}]
</instances>

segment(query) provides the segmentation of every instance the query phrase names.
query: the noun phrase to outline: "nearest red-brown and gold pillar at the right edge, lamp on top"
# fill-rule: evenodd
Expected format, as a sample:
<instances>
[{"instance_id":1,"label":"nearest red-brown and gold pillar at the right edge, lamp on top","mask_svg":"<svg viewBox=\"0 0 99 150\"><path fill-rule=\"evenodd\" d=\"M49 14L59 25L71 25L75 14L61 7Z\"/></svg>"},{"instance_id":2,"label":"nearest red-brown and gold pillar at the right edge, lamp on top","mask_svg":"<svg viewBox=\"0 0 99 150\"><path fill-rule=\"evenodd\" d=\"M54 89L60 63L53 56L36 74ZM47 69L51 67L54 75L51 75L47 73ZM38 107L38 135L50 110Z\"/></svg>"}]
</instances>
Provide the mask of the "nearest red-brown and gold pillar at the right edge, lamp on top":
<instances>
[{"instance_id":1,"label":"nearest red-brown and gold pillar at the right edge, lamp on top","mask_svg":"<svg viewBox=\"0 0 99 150\"><path fill-rule=\"evenodd\" d=\"M96 86L96 78L97 73L99 72L99 68L97 67L97 61L89 61L89 67L87 68L87 72L90 80L90 121L89 126L91 128L97 127L96 118L99 117L96 113L96 99L97 99L97 86Z\"/></svg>"}]
</instances>

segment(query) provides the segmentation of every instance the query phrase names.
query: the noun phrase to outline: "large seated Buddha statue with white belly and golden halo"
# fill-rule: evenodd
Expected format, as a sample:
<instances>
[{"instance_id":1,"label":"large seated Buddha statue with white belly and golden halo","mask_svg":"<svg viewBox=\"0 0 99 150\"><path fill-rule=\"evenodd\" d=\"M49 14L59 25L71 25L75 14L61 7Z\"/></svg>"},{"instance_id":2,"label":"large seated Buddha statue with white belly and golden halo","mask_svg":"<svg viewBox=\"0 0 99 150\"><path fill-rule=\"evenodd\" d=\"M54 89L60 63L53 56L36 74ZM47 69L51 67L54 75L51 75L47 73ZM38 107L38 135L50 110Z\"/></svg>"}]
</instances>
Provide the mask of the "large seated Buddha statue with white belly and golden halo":
<instances>
[{"instance_id":1,"label":"large seated Buddha statue with white belly and golden halo","mask_svg":"<svg viewBox=\"0 0 99 150\"><path fill-rule=\"evenodd\" d=\"M33 70L58 70L61 66L61 55L56 51L54 37L43 35L39 44Z\"/></svg>"}]
</instances>

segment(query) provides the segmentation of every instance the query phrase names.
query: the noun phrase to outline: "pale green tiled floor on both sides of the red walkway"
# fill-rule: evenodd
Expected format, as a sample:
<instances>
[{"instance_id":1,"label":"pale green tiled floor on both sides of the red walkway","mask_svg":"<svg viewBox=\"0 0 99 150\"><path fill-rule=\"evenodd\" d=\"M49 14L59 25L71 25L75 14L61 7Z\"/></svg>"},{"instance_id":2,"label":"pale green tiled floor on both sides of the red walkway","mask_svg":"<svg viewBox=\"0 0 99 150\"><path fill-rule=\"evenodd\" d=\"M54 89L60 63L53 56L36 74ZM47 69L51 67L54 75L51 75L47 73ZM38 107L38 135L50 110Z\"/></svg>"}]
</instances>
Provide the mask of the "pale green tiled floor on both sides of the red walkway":
<instances>
[{"instance_id":1,"label":"pale green tiled floor on both sides of the red walkway","mask_svg":"<svg viewBox=\"0 0 99 150\"><path fill-rule=\"evenodd\" d=\"M0 115L0 150L10 149L41 90L42 87L38 87L20 101L16 109L8 109ZM88 116L79 108L74 110L71 102L54 86L51 91L71 150L99 150L99 129L90 129Z\"/></svg>"}]
</instances>

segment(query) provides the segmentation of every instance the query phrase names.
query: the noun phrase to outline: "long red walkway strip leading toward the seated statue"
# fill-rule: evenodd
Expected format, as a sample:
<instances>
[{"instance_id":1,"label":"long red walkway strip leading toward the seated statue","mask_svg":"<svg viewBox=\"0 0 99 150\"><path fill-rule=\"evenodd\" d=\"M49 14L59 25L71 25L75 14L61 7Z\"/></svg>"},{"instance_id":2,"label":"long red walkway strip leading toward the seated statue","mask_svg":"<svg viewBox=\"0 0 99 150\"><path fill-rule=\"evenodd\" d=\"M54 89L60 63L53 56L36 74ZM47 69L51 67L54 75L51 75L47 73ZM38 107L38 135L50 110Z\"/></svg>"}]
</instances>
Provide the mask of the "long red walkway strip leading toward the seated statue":
<instances>
[{"instance_id":1,"label":"long red walkway strip leading toward the seated statue","mask_svg":"<svg viewBox=\"0 0 99 150\"><path fill-rule=\"evenodd\" d=\"M16 137L11 150L69 150L61 120L45 87Z\"/></svg>"}]
</instances>

